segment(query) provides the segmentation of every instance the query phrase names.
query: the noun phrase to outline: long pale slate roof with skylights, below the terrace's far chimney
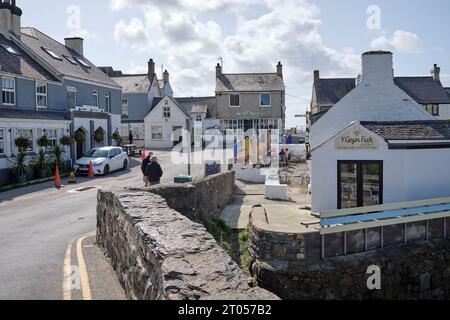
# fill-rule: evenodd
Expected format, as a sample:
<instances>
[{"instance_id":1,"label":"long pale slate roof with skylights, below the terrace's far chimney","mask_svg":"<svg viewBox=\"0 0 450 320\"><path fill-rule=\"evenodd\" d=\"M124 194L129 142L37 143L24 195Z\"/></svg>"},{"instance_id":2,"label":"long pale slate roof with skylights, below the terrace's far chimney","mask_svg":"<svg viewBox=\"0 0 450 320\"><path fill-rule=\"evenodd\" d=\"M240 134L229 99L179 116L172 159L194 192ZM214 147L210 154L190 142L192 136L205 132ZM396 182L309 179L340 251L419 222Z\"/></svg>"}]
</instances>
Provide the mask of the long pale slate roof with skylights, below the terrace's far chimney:
<instances>
[{"instance_id":1,"label":"long pale slate roof with skylights, below the terrace's far chimney","mask_svg":"<svg viewBox=\"0 0 450 320\"><path fill-rule=\"evenodd\" d=\"M46 63L56 69L58 73L64 76L70 76L82 80L118 87L117 83L115 83L110 77L103 73L92 62L87 60L85 57L79 56L72 49L67 48L65 45L50 38L41 31L35 28L22 28L21 31L21 41L26 46L28 46L36 55L38 55ZM47 52L42 49L42 47L51 49L61 58L61 60L52 58ZM76 65L70 63L66 58L63 57L64 55L72 59L81 58L89 65L89 68L82 66L78 62Z\"/></svg>"}]
</instances>

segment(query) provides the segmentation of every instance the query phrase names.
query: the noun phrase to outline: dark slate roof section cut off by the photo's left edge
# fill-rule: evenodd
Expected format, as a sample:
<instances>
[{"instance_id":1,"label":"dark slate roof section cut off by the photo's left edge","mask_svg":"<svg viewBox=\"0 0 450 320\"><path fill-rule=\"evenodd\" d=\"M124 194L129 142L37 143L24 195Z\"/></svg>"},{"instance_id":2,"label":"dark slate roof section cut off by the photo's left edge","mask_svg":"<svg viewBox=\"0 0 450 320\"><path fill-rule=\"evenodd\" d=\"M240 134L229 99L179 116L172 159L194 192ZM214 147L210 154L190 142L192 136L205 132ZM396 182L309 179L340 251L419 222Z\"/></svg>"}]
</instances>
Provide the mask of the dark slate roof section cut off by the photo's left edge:
<instances>
[{"instance_id":1,"label":"dark slate roof section cut off by the photo's left edge","mask_svg":"<svg viewBox=\"0 0 450 320\"><path fill-rule=\"evenodd\" d=\"M15 55L0 47L0 71L26 78L58 81L50 72L34 61L25 51L0 34L0 42L11 46L19 55Z\"/></svg>"}]
</instances>

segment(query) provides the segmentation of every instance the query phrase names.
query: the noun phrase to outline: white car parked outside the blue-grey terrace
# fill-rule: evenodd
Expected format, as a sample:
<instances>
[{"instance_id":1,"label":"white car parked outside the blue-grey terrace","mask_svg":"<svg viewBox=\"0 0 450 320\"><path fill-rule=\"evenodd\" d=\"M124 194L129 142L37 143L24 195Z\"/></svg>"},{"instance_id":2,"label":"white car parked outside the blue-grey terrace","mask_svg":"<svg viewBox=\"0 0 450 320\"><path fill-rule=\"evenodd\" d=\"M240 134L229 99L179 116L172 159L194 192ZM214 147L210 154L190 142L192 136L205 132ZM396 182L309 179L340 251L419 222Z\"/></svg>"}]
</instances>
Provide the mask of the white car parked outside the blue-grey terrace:
<instances>
[{"instance_id":1,"label":"white car parked outside the blue-grey terrace","mask_svg":"<svg viewBox=\"0 0 450 320\"><path fill-rule=\"evenodd\" d=\"M127 153L120 147L95 148L77 160L74 165L75 172L89 173L91 161L95 175L107 175L116 170L124 170L130 163Z\"/></svg>"}]
</instances>

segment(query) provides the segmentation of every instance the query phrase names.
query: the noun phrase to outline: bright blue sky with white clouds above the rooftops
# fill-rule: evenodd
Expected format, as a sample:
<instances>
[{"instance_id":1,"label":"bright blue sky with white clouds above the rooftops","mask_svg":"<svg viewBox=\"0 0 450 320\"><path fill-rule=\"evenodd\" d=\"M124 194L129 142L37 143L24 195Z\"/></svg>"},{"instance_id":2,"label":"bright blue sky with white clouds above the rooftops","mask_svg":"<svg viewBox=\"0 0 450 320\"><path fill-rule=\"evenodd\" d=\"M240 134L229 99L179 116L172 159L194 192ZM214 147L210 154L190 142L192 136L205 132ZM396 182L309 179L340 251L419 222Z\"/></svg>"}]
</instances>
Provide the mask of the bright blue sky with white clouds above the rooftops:
<instances>
[{"instance_id":1,"label":"bright blue sky with white clouds above the rooftops","mask_svg":"<svg viewBox=\"0 0 450 320\"><path fill-rule=\"evenodd\" d=\"M224 73L276 72L284 65L287 126L309 108L313 70L355 77L361 54L394 52L398 76L441 67L450 86L448 0L17 0L22 26L58 41L85 39L98 66L145 73L153 58L175 96L213 96ZM161 77L161 75L159 75Z\"/></svg>"}]
</instances>

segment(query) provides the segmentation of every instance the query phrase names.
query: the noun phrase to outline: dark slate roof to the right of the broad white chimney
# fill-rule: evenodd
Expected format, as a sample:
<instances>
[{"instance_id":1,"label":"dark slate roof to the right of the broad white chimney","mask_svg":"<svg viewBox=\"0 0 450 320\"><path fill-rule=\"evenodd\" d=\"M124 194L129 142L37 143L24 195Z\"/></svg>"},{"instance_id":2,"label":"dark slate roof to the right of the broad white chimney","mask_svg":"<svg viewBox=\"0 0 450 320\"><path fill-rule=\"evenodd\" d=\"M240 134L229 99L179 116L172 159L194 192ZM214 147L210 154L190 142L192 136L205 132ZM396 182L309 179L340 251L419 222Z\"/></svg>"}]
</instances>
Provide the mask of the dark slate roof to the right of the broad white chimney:
<instances>
[{"instance_id":1,"label":"dark slate roof to the right of the broad white chimney","mask_svg":"<svg viewBox=\"0 0 450 320\"><path fill-rule=\"evenodd\" d=\"M450 97L441 82L433 80L432 77L396 77L394 81L417 103L450 103Z\"/></svg>"}]
</instances>

